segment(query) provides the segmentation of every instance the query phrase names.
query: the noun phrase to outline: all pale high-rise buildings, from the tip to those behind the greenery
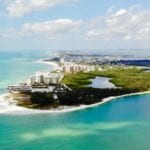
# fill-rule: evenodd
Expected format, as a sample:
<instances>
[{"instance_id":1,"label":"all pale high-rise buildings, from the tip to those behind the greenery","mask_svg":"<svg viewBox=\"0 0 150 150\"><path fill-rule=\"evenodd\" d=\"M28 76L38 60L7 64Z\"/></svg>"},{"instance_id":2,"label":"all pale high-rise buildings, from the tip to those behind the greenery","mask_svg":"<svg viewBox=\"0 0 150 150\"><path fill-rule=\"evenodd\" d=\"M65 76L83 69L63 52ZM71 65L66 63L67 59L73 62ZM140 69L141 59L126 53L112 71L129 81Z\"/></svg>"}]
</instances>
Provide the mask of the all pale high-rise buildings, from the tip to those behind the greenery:
<instances>
[{"instance_id":1,"label":"all pale high-rise buildings, from the tip to those behind the greenery","mask_svg":"<svg viewBox=\"0 0 150 150\"><path fill-rule=\"evenodd\" d=\"M94 65L65 62L64 59L60 59L57 73L37 72L26 83L8 86L8 90L10 92L57 92L64 89L71 90L66 85L60 84L64 74L72 74L80 71L89 72L95 69L96 66Z\"/></svg>"}]
</instances>

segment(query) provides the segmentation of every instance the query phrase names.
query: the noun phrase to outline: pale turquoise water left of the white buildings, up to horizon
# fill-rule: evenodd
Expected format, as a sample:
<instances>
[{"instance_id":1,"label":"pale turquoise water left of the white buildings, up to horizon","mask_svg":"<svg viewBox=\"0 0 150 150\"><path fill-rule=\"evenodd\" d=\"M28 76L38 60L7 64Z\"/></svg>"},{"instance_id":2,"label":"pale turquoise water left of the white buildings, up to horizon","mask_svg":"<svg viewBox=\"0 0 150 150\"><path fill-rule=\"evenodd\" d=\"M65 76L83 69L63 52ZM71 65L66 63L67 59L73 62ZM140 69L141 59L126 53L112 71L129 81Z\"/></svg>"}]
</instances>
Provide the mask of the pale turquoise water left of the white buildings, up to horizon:
<instances>
[{"instance_id":1,"label":"pale turquoise water left of the white buildings, up to horizon","mask_svg":"<svg viewBox=\"0 0 150 150\"><path fill-rule=\"evenodd\" d=\"M37 71L51 70L54 67L40 63L41 58L47 58L42 53L2 53L0 52L0 93L6 92L10 84L26 81Z\"/></svg>"}]
</instances>

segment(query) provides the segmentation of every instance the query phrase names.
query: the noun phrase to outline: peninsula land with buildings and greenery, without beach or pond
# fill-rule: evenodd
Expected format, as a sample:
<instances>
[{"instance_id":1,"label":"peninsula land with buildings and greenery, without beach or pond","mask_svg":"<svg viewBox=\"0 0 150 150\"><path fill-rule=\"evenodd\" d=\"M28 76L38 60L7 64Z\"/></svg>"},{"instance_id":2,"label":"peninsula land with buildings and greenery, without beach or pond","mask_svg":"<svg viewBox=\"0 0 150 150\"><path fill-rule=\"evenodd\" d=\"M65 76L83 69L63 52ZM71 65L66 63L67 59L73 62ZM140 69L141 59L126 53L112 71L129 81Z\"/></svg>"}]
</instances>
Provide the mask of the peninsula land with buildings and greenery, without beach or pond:
<instances>
[{"instance_id":1,"label":"peninsula land with buildings and greenery, without beach or pond","mask_svg":"<svg viewBox=\"0 0 150 150\"><path fill-rule=\"evenodd\" d=\"M57 64L56 70L38 72L27 82L8 87L17 105L43 110L62 106L91 105L111 96L150 89L150 72L145 71L144 68L120 64L91 64L84 59L53 60ZM53 60L44 60L44 62ZM96 77L107 77L114 87L90 87L91 79Z\"/></svg>"}]
</instances>

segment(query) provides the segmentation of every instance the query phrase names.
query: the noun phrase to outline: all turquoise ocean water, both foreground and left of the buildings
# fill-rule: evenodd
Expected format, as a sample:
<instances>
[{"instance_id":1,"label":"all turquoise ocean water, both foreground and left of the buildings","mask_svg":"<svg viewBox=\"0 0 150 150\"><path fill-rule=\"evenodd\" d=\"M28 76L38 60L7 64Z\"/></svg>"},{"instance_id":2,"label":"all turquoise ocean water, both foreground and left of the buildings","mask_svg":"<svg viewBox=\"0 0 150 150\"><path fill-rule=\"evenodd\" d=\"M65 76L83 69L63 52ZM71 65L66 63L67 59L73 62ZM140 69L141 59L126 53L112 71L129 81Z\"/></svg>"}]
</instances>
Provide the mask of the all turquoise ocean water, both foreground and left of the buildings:
<instances>
[{"instance_id":1,"label":"all turquoise ocean water, both foreground and left of the buildings","mask_svg":"<svg viewBox=\"0 0 150 150\"><path fill-rule=\"evenodd\" d=\"M0 54L0 91L36 71L45 54ZM149 150L150 94L62 114L0 115L0 150Z\"/></svg>"}]
</instances>

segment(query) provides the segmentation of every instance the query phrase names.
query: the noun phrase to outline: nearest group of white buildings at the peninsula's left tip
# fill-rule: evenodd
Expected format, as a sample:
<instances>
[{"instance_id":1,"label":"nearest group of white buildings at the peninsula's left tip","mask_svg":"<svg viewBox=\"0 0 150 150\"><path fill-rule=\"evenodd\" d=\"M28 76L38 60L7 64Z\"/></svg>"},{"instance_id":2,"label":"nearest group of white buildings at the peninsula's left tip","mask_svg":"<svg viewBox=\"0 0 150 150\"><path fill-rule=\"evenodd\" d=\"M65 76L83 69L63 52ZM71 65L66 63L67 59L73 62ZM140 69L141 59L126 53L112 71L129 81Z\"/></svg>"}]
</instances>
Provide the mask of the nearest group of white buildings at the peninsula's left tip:
<instances>
[{"instance_id":1,"label":"nearest group of white buildings at the peninsula's left tip","mask_svg":"<svg viewBox=\"0 0 150 150\"><path fill-rule=\"evenodd\" d=\"M10 92L54 92L63 74L37 72L26 83L8 86Z\"/></svg>"}]
</instances>

